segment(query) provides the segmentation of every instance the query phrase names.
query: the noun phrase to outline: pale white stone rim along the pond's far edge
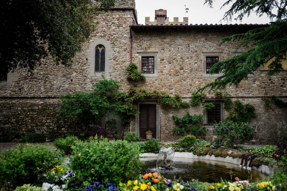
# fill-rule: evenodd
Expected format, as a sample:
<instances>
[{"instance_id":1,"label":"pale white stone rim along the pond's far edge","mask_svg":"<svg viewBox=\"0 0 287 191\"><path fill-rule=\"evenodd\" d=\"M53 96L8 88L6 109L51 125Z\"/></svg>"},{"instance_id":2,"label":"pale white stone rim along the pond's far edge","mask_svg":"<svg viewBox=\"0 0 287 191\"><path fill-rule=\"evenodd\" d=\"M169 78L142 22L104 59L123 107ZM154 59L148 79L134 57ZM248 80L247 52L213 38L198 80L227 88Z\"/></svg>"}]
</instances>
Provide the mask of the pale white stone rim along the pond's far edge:
<instances>
[{"instance_id":1,"label":"pale white stone rim along the pond's far edge","mask_svg":"<svg viewBox=\"0 0 287 191\"><path fill-rule=\"evenodd\" d=\"M152 158L152 157L158 157L158 153L141 153L140 158ZM233 158L230 156L227 157L220 157L220 156L214 156L214 155L201 155L197 156L194 155L193 153L186 153L186 152L175 152L174 157L176 158L196 158L196 159L202 159L202 160L209 160L209 161L219 161L219 162L224 162L224 163L230 163L230 164L236 164L238 165L241 162L241 158ZM266 165L261 165L259 167L252 167L252 169L259 171L264 174L273 174L273 170L266 166Z\"/></svg>"}]
</instances>

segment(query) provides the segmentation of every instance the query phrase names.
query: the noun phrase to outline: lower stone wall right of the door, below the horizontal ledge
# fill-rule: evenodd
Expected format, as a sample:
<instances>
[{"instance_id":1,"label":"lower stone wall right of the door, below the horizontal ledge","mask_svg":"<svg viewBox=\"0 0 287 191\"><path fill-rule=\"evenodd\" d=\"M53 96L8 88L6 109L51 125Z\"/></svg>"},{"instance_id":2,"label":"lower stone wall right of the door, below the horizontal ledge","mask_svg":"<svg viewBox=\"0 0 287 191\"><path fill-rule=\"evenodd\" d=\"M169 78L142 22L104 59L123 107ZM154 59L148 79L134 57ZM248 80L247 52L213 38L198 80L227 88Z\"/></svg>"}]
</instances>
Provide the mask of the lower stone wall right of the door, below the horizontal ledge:
<instances>
[{"instance_id":1,"label":"lower stone wall right of the door, below the horizontal ledge","mask_svg":"<svg viewBox=\"0 0 287 191\"><path fill-rule=\"evenodd\" d=\"M250 125L253 127L254 140L256 144L276 144L276 142L287 133L287 110L286 108L279 108L275 104L271 104L269 110L264 108L264 103L261 98L232 98L233 101L239 99L244 104L252 104L255 107L257 114L256 118L251 118ZM285 98L287 101L287 99ZM185 101L188 101L186 99ZM180 138L172 131L173 127L177 127L172 119L172 115L182 117L185 112L190 114L203 114L201 102L195 106L190 106L185 109L168 108L161 105L160 110L160 129L161 140L163 141L175 141ZM228 116L230 110L225 110L224 117ZM206 126L207 133L204 137L206 140L212 140L213 127Z\"/></svg>"}]
</instances>

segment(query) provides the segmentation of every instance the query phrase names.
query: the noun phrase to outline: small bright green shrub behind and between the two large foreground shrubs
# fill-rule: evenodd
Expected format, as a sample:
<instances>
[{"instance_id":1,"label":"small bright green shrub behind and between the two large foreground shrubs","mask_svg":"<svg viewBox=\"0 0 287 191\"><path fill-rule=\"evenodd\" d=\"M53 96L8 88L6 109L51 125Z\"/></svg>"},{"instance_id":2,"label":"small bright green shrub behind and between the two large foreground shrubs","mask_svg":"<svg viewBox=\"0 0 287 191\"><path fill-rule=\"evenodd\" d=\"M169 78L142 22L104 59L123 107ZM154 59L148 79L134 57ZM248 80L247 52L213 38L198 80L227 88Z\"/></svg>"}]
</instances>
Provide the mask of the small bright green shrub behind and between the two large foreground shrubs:
<instances>
[{"instance_id":1,"label":"small bright green shrub behind and between the two large foreground shrubs","mask_svg":"<svg viewBox=\"0 0 287 191\"><path fill-rule=\"evenodd\" d=\"M61 137L55 139L53 144L65 154L71 154L72 146L74 146L77 142L79 142L79 138L74 135L70 135L65 138Z\"/></svg>"}]
</instances>

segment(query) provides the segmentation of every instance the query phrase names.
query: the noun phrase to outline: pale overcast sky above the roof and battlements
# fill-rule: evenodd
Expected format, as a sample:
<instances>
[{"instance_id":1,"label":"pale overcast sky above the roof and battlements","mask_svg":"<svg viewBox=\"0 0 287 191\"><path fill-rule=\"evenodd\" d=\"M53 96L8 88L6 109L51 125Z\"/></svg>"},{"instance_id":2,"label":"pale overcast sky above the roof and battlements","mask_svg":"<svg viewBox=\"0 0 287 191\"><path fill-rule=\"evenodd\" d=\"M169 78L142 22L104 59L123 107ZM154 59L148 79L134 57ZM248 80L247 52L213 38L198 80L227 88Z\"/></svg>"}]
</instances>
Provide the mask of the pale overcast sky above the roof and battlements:
<instances>
[{"instance_id":1,"label":"pale overcast sky above the roof and battlements","mask_svg":"<svg viewBox=\"0 0 287 191\"><path fill-rule=\"evenodd\" d=\"M173 21L173 17L179 17L179 21L183 21L185 17L184 5L189 8L186 17L188 17L188 24L220 24L226 10L229 7L225 7L220 10L220 7L227 0L215 0L213 8L209 8L204 4L204 0L135 0L136 9L138 12L138 23L145 24L145 17L150 17L150 21L154 21L155 10L164 9L167 10L167 17L170 21ZM270 20L267 16L258 17L255 13L248 18L243 19L242 22L233 20L231 23L242 24L266 24ZM222 21L222 24L227 24L226 21ZM230 24L230 23L229 23Z\"/></svg>"}]
</instances>

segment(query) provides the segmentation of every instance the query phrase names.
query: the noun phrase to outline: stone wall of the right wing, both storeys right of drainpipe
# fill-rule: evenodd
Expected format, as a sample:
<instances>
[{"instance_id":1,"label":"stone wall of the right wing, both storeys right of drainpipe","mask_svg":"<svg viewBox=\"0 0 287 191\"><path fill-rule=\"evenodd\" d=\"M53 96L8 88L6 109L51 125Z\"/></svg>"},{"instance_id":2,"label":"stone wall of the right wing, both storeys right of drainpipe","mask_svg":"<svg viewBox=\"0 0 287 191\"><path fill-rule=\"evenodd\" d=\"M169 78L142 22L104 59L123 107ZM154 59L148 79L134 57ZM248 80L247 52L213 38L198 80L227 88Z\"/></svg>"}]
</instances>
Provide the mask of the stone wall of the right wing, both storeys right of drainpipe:
<instances>
[{"instance_id":1,"label":"stone wall of the right wing, both storeys right of drainpipe","mask_svg":"<svg viewBox=\"0 0 287 191\"><path fill-rule=\"evenodd\" d=\"M240 31L237 31L240 32ZM138 63L137 52L158 52L158 76L147 77L143 83L135 84L135 87L146 90L167 91L170 95L178 93L184 98L190 98L192 92L213 81L215 77L203 77L203 55L201 52L223 52L222 60L234 55L236 43L218 46L220 39L234 34L230 30L207 31L171 31L158 30L152 32L133 32L133 62ZM241 49L238 51L245 51ZM274 76L268 76L266 71L260 69L254 73L254 77L248 78L239 84L239 88L233 86L226 89L234 97L244 103L253 104L257 117L250 124L253 126L256 143L273 143L287 133L286 109L273 105L272 109L265 110L261 96L287 96L287 73L283 72ZM249 98L242 98L242 97ZM207 92L207 98L214 97ZM254 98L252 98L254 97ZM187 99L188 100L188 99ZM186 109L165 108L160 110L161 139L174 141L179 138L172 132L176 127L172 115L183 116ZM191 106L192 114L203 114L201 105ZM225 111L227 116L227 111ZM212 128L207 133L207 139L211 139Z\"/></svg>"}]
</instances>

